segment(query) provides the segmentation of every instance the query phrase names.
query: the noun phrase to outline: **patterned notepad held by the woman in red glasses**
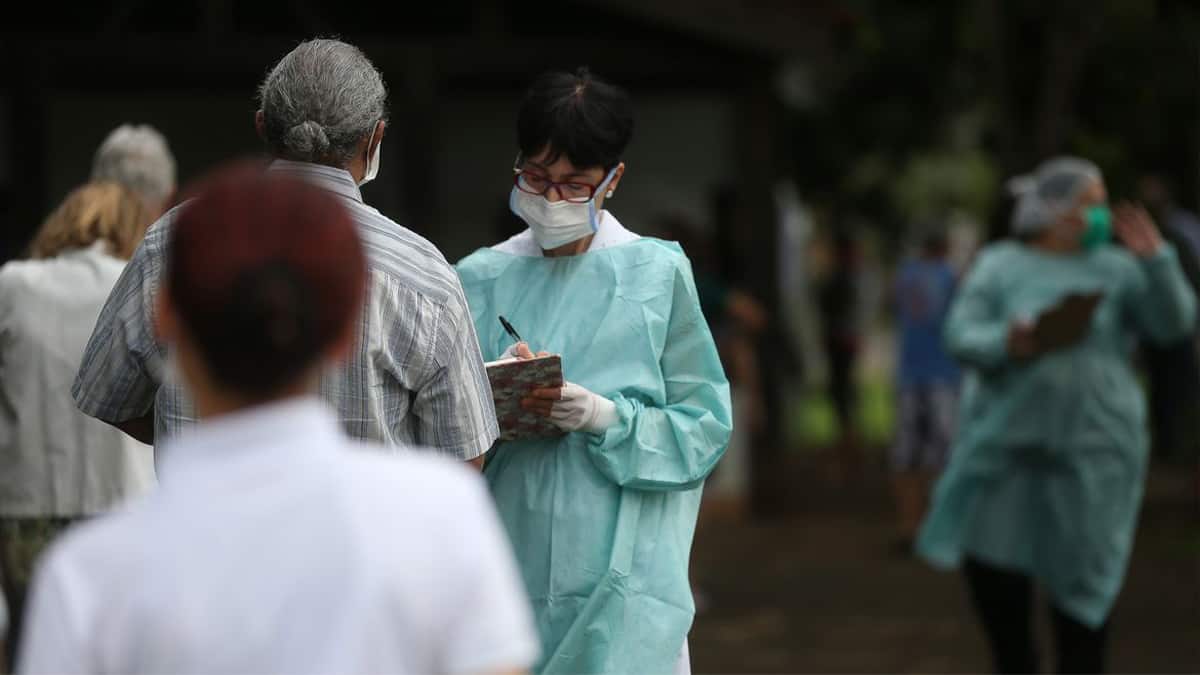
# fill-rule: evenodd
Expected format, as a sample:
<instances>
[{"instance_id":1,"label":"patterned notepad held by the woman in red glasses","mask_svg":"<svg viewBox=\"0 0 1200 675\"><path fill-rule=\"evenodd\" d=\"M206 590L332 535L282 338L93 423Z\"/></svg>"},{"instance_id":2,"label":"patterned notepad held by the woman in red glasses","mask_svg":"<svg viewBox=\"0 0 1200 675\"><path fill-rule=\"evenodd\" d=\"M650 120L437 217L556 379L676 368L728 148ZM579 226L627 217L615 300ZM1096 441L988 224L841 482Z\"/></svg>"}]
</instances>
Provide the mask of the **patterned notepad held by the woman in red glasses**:
<instances>
[{"instance_id":1,"label":"patterned notepad held by the woman in red glasses","mask_svg":"<svg viewBox=\"0 0 1200 675\"><path fill-rule=\"evenodd\" d=\"M484 364L492 383L496 419L500 424L500 441L553 438L563 431L548 418L521 407L521 399L533 389L553 389L563 386L563 358L553 354L533 359L502 359Z\"/></svg>"}]
</instances>

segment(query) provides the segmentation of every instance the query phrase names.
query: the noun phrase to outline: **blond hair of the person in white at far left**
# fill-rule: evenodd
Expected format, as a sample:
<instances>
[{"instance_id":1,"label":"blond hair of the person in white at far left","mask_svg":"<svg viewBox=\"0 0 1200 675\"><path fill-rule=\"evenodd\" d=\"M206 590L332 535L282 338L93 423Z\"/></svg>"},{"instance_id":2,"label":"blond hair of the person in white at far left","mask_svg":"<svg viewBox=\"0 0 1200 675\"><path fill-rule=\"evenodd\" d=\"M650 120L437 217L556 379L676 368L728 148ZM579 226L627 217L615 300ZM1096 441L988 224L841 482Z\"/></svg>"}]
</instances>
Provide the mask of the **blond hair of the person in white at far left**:
<instances>
[{"instance_id":1,"label":"blond hair of the person in white at far left","mask_svg":"<svg viewBox=\"0 0 1200 675\"><path fill-rule=\"evenodd\" d=\"M154 216L145 202L124 185L89 183L67 195L46 219L29 246L29 255L52 258L104 241L109 253L127 259Z\"/></svg>"}]
</instances>

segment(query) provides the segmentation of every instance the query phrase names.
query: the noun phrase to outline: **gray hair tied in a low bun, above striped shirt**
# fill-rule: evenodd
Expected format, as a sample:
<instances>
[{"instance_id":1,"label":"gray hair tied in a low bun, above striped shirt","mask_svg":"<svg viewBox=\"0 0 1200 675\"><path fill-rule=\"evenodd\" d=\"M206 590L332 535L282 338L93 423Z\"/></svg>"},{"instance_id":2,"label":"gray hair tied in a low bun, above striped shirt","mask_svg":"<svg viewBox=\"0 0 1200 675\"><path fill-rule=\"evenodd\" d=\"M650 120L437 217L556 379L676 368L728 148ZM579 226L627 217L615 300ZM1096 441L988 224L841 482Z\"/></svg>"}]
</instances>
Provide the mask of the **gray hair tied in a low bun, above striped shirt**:
<instances>
[{"instance_id":1,"label":"gray hair tied in a low bun, above striped shirt","mask_svg":"<svg viewBox=\"0 0 1200 675\"><path fill-rule=\"evenodd\" d=\"M386 117L383 76L353 44L311 40L258 88L266 145L278 157L346 166Z\"/></svg>"}]
</instances>

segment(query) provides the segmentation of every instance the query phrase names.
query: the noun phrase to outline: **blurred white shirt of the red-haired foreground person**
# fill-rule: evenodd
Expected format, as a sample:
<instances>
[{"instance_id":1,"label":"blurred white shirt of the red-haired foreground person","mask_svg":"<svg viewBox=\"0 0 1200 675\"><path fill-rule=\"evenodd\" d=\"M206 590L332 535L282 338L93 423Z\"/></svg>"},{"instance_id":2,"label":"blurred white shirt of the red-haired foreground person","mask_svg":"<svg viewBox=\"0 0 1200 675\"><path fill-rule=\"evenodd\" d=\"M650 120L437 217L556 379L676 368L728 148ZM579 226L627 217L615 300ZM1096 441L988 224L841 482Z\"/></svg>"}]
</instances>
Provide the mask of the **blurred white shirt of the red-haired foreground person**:
<instances>
[{"instance_id":1,"label":"blurred white shirt of the red-haired foreground person","mask_svg":"<svg viewBox=\"0 0 1200 675\"><path fill-rule=\"evenodd\" d=\"M538 656L482 479L296 399L202 423L54 544L22 673L467 673Z\"/></svg>"}]
</instances>

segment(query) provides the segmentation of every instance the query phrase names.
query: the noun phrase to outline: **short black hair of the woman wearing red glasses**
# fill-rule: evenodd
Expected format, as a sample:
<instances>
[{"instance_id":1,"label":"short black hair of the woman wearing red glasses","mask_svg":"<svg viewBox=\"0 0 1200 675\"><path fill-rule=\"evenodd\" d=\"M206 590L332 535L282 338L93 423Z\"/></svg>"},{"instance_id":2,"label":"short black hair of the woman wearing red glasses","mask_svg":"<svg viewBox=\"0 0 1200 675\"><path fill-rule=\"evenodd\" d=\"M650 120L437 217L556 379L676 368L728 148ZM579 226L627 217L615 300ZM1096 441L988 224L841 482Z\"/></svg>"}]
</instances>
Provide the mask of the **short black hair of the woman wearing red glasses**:
<instances>
[{"instance_id":1,"label":"short black hair of the woman wearing red glasses","mask_svg":"<svg viewBox=\"0 0 1200 675\"><path fill-rule=\"evenodd\" d=\"M634 137L634 104L624 89L592 76L548 72L526 91L517 112L517 145L523 157L548 150L578 168L610 169Z\"/></svg>"}]
</instances>

